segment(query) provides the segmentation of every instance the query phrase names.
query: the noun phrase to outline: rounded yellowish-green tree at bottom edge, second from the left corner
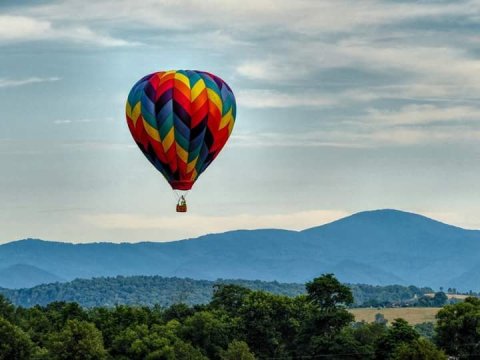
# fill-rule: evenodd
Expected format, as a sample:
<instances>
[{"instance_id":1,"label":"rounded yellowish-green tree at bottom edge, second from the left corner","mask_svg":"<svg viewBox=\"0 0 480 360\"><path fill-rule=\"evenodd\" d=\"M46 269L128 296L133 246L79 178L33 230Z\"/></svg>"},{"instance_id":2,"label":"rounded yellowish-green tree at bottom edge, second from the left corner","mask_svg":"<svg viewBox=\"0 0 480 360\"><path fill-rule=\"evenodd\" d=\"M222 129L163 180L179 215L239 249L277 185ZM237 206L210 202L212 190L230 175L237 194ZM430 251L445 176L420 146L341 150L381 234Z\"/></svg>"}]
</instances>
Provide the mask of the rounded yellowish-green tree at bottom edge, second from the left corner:
<instances>
[{"instance_id":1,"label":"rounded yellowish-green tree at bottom edge, second from the left corner","mask_svg":"<svg viewBox=\"0 0 480 360\"><path fill-rule=\"evenodd\" d=\"M106 358L102 333L92 323L68 320L54 333L48 346L52 360L101 360Z\"/></svg>"}]
</instances>

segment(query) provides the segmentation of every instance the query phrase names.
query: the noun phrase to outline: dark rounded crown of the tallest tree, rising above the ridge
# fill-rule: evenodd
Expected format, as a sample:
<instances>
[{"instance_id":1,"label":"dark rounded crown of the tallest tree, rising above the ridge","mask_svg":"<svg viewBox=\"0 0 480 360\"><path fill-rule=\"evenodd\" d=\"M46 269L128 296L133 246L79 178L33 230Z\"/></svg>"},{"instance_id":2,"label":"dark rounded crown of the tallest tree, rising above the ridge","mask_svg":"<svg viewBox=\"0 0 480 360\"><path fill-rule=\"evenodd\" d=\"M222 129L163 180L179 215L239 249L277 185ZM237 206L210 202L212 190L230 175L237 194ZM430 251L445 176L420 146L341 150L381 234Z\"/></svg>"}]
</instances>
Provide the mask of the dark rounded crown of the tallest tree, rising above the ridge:
<instances>
[{"instance_id":1,"label":"dark rounded crown of the tallest tree, rising above the ridge","mask_svg":"<svg viewBox=\"0 0 480 360\"><path fill-rule=\"evenodd\" d=\"M306 284L308 298L324 311L335 310L339 305L353 304L353 294L348 286L333 274L322 275Z\"/></svg>"}]
</instances>

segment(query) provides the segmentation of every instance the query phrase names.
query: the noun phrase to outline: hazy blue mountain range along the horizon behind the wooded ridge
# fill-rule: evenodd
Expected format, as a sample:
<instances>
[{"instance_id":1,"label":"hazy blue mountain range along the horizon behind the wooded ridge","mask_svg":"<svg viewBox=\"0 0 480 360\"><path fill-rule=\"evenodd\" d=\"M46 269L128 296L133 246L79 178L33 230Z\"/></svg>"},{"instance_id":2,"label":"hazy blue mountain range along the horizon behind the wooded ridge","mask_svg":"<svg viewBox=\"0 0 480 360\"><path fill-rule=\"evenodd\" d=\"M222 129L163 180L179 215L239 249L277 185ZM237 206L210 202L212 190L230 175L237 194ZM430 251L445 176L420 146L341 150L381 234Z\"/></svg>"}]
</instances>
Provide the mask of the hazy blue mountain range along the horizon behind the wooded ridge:
<instances>
[{"instance_id":1,"label":"hazy blue mountain range along the horizon behind the wooded ridge","mask_svg":"<svg viewBox=\"0 0 480 360\"><path fill-rule=\"evenodd\" d=\"M354 214L304 231L239 230L169 243L0 245L0 287L116 275L303 283L341 281L480 290L480 231L397 211Z\"/></svg>"}]
</instances>

